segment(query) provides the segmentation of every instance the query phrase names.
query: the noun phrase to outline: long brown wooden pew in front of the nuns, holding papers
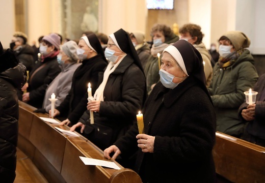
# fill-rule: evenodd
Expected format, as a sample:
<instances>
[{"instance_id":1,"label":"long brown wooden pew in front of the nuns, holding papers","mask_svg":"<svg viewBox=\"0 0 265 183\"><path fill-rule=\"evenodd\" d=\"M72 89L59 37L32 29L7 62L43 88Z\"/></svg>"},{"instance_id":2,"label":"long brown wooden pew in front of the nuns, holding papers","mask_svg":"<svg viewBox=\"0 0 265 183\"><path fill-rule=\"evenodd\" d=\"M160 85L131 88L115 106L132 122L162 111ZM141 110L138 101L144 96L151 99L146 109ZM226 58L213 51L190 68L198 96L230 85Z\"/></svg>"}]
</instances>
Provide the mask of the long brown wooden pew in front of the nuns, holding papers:
<instances>
[{"instance_id":1,"label":"long brown wooden pew in front of the nuns, holding papers","mask_svg":"<svg viewBox=\"0 0 265 183\"><path fill-rule=\"evenodd\" d=\"M54 127L69 128L41 120L39 117L48 115L33 113L34 110L34 107L19 101L18 147L49 182L142 182L135 171L123 168L114 160L111 161L120 170L85 165L79 156L107 159L104 159L102 150L88 139L62 134Z\"/></svg>"}]
</instances>

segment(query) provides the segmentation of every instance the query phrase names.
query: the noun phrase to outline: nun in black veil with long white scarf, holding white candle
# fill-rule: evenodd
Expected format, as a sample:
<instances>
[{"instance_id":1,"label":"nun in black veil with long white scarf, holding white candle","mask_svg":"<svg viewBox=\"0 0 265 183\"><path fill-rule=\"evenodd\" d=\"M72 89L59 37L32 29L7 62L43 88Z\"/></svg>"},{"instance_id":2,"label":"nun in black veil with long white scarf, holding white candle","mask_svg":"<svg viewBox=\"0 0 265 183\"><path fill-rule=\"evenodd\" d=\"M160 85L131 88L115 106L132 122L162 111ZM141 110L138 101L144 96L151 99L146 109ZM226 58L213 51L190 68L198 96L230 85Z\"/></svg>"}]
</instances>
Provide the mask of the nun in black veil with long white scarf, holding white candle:
<instances>
[{"instance_id":1,"label":"nun in black veil with long white scarf, holding white candle","mask_svg":"<svg viewBox=\"0 0 265 183\"><path fill-rule=\"evenodd\" d=\"M123 29L109 36L105 56L110 63L95 92L95 100L88 103L88 110L70 129L82 126L83 135L101 149L110 146L133 125L146 97L141 62ZM93 125L89 110L96 112Z\"/></svg>"}]
</instances>

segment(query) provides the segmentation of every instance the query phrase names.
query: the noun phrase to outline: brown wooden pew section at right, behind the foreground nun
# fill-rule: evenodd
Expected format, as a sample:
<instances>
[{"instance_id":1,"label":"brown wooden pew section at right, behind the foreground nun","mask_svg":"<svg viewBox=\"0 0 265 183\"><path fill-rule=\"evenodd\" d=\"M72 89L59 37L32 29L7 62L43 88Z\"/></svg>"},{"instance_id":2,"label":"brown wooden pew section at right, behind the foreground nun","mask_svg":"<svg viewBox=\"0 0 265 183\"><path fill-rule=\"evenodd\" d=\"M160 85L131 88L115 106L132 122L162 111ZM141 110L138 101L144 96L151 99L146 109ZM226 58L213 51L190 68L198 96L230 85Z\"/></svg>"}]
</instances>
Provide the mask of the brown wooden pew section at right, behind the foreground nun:
<instances>
[{"instance_id":1,"label":"brown wooden pew section at right, behind the foreground nun","mask_svg":"<svg viewBox=\"0 0 265 183\"><path fill-rule=\"evenodd\" d=\"M231 182L265 182L265 147L220 134L213 150L216 172Z\"/></svg>"}]
</instances>

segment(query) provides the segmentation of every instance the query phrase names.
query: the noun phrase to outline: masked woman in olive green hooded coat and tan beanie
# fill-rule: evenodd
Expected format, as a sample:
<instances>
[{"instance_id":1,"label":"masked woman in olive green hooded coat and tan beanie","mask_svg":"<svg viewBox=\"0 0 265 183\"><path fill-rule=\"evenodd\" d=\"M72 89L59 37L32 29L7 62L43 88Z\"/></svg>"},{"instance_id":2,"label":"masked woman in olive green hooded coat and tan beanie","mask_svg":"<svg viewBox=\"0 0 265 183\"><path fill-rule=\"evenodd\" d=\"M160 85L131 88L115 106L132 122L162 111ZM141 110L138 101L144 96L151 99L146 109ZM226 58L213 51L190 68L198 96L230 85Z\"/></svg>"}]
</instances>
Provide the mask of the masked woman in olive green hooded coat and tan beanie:
<instances>
[{"instance_id":1,"label":"masked woman in olive green hooded coat and tan beanie","mask_svg":"<svg viewBox=\"0 0 265 183\"><path fill-rule=\"evenodd\" d=\"M217 115L217 131L241 138L246 123L237 110L245 100L244 92L253 88L258 79L249 38L240 31L229 31L219 39L220 58L213 69L209 86Z\"/></svg>"}]
</instances>

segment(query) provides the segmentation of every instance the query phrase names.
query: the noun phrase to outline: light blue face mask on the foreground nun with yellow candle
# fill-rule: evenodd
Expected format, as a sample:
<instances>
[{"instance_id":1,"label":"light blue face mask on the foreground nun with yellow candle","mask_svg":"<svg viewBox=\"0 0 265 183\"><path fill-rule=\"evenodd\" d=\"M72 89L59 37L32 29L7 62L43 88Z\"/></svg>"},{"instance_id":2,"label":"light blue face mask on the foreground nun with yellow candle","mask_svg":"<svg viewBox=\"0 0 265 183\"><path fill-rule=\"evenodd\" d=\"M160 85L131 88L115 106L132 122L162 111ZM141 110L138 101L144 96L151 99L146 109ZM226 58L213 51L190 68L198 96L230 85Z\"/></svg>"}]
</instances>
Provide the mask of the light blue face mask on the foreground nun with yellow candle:
<instances>
[{"instance_id":1,"label":"light blue face mask on the foreground nun with yellow candle","mask_svg":"<svg viewBox=\"0 0 265 183\"><path fill-rule=\"evenodd\" d=\"M159 75L160 75L160 81L161 83L166 87L166 88L170 88L170 89L174 89L179 83L174 83L173 79L174 78L187 78L187 77L175 77L173 74L168 73L167 71L160 69L159 71Z\"/></svg>"}]
</instances>

